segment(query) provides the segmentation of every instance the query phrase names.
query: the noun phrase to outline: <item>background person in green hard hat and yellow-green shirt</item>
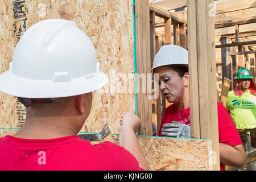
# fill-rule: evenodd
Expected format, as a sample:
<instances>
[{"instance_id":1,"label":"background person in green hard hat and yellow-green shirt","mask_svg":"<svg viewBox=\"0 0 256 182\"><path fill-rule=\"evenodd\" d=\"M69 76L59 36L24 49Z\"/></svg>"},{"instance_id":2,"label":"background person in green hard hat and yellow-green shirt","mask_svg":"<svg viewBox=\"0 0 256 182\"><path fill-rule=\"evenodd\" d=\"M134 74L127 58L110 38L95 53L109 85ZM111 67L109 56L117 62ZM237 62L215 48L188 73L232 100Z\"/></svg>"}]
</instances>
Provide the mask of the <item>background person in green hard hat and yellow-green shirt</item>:
<instances>
[{"instance_id":1,"label":"background person in green hard hat and yellow-green shirt","mask_svg":"<svg viewBox=\"0 0 256 182\"><path fill-rule=\"evenodd\" d=\"M240 68L237 76L237 87L228 94L226 109L236 125L246 152L256 150L256 86L247 68ZM247 167L255 171L256 164Z\"/></svg>"}]
</instances>

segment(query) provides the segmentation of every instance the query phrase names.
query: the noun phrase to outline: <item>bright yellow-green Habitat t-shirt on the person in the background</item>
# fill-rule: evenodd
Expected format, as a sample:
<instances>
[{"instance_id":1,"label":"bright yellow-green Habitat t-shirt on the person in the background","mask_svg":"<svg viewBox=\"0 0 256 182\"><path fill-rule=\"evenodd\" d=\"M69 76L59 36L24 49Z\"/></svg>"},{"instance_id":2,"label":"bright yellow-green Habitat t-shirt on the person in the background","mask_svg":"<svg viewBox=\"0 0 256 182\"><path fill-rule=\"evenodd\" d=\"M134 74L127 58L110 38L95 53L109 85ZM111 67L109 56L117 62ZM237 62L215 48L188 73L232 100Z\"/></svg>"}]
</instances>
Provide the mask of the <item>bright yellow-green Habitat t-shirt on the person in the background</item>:
<instances>
[{"instance_id":1,"label":"bright yellow-green Habitat t-shirt on the person in the background","mask_svg":"<svg viewBox=\"0 0 256 182\"><path fill-rule=\"evenodd\" d=\"M226 101L229 111L237 129L254 129L256 127L256 96L250 90L242 96L236 96L230 91Z\"/></svg>"}]
</instances>

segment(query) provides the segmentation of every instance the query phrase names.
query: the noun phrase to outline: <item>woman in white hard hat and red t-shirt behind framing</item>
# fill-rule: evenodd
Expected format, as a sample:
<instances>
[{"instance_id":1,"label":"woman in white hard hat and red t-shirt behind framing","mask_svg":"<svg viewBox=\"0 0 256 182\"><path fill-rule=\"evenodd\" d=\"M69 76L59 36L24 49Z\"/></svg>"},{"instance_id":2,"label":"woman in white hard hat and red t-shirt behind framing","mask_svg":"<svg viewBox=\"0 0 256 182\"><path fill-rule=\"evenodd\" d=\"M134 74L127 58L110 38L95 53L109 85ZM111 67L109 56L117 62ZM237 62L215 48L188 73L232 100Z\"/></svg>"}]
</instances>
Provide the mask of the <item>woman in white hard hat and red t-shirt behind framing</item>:
<instances>
[{"instance_id":1,"label":"woman in white hard hat and red t-shirt behind framing","mask_svg":"<svg viewBox=\"0 0 256 182\"><path fill-rule=\"evenodd\" d=\"M159 74L159 88L168 102L158 131L159 137L191 138L189 113L188 51L180 46L162 46L152 71ZM218 102L218 132L221 170L225 164L242 167L245 150L228 111Z\"/></svg>"}]
</instances>

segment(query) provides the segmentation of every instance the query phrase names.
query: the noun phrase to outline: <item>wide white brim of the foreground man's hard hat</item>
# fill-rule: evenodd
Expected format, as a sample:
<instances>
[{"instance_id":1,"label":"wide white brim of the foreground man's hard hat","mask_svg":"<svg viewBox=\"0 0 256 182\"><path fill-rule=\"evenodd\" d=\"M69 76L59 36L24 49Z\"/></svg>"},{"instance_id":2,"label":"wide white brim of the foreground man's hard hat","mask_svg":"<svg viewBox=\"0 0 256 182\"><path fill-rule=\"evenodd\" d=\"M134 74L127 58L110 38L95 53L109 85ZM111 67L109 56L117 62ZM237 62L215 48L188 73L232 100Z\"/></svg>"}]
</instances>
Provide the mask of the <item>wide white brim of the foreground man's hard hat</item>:
<instances>
[{"instance_id":1,"label":"wide white brim of the foreground man's hard hat","mask_svg":"<svg viewBox=\"0 0 256 182\"><path fill-rule=\"evenodd\" d=\"M10 70L0 76L0 91L11 96L23 98L57 98L90 93L105 86L108 76L98 72L86 78L72 78L71 81L54 82L33 80L14 75Z\"/></svg>"}]
</instances>

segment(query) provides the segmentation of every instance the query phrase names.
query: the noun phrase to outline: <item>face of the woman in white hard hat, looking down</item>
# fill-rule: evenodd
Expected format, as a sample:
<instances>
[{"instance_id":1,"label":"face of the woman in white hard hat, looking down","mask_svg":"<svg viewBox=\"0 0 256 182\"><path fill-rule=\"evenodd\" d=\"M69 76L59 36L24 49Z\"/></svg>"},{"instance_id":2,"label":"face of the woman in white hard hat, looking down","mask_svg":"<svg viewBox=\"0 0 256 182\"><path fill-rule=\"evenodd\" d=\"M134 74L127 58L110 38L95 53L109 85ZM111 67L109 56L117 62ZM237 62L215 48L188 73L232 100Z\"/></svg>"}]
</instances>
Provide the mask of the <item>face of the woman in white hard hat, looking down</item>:
<instances>
[{"instance_id":1,"label":"face of the woman in white hard hat, looking down","mask_svg":"<svg viewBox=\"0 0 256 182\"><path fill-rule=\"evenodd\" d=\"M163 96L170 103L177 103L183 99L184 86L188 86L188 75L180 77L174 69L162 66L155 69L159 74L159 87Z\"/></svg>"}]
</instances>

